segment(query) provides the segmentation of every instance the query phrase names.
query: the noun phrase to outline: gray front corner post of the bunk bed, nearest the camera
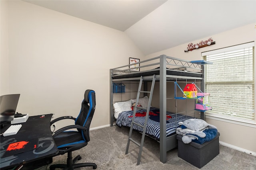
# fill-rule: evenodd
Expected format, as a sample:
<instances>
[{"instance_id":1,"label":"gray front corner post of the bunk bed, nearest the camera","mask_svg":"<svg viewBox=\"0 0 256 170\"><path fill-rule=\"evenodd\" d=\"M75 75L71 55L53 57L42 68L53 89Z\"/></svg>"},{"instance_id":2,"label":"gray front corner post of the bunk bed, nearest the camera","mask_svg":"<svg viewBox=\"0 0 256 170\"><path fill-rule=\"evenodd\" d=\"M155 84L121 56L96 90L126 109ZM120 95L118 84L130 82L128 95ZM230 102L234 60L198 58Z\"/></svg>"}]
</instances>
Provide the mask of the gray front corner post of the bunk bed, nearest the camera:
<instances>
[{"instance_id":1,"label":"gray front corner post of the bunk bed, nearest the camera","mask_svg":"<svg viewBox=\"0 0 256 170\"><path fill-rule=\"evenodd\" d=\"M160 161L166 163L166 55L160 56Z\"/></svg>"}]
</instances>

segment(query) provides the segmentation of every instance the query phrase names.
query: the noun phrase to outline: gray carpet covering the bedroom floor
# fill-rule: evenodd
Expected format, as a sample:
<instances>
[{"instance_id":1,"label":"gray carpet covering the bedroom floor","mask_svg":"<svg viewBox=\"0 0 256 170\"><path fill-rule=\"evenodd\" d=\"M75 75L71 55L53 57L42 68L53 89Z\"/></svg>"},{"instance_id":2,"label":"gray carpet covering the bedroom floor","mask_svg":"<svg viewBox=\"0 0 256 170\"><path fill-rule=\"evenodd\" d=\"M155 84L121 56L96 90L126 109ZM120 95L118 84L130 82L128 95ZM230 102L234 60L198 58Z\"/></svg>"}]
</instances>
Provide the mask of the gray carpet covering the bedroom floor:
<instances>
[{"instance_id":1,"label":"gray carpet covering the bedroom floor","mask_svg":"<svg viewBox=\"0 0 256 170\"><path fill-rule=\"evenodd\" d=\"M178 157L178 149L167 152L167 162L159 160L159 143L145 137L140 165L136 165L139 147L130 143L128 154L125 154L129 129L106 127L90 131L90 142L86 147L73 152L73 157L80 154L79 162L94 162L97 170L198 170L192 164ZM141 134L133 133L134 139L140 139ZM65 163L66 154L55 156L52 164ZM49 166L39 168L49 169ZM80 170L92 167L78 168ZM220 145L220 154L206 164L201 170L256 170L256 156L240 152Z\"/></svg>"}]
</instances>

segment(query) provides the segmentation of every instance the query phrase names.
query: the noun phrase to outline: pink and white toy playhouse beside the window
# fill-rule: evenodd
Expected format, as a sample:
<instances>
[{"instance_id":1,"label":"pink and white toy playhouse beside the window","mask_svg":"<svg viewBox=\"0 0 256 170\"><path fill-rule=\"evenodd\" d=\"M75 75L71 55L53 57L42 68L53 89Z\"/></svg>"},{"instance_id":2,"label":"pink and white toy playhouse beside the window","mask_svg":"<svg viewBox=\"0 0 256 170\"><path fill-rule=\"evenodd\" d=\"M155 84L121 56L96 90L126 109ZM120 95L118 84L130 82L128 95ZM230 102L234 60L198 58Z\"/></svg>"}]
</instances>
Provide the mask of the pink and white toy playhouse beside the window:
<instances>
[{"instance_id":1,"label":"pink and white toy playhouse beside the window","mask_svg":"<svg viewBox=\"0 0 256 170\"><path fill-rule=\"evenodd\" d=\"M210 93L198 93L198 99L196 99L196 110L206 111L211 110L209 102Z\"/></svg>"}]
</instances>

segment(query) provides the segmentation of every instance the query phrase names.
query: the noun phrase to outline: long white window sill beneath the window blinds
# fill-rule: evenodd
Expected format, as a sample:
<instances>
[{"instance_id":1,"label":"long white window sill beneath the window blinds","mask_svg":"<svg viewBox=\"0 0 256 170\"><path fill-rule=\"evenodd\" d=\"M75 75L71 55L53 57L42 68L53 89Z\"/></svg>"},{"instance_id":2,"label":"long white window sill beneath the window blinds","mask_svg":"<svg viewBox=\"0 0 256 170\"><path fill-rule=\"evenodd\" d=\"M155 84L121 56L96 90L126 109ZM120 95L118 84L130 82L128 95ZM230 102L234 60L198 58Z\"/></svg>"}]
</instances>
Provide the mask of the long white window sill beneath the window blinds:
<instances>
[{"instance_id":1,"label":"long white window sill beneath the window blinds","mask_svg":"<svg viewBox=\"0 0 256 170\"><path fill-rule=\"evenodd\" d=\"M217 114L212 114L212 113L206 113L205 117L208 118L208 119L214 119L214 120L218 120L218 121L224 121L224 122L228 122L228 123L234 123L234 124L237 124L237 125L243 125L243 126L256 128L256 122L255 121L230 118L230 117L226 117L224 115L217 115Z\"/></svg>"}]
</instances>

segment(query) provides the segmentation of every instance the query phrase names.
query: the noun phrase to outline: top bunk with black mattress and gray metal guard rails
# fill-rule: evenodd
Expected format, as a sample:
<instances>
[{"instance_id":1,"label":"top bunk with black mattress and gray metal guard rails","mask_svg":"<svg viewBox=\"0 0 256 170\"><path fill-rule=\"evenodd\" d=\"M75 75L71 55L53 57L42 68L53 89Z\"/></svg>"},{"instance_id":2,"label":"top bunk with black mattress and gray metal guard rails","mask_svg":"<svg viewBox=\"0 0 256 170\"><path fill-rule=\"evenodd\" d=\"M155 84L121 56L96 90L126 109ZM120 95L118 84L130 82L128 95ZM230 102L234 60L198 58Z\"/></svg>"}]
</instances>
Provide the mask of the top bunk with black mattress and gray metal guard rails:
<instances>
[{"instance_id":1,"label":"top bunk with black mattress and gray metal guard rails","mask_svg":"<svg viewBox=\"0 0 256 170\"><path fill-rule=\"evenodd\" d=\"M207 64L207 62L186 61L166 55L160 55L152 59L112 68L110 69L110 76L112 79L132 78L135 80L134 78L139 78L140 76L161 75L160 72L166 71L166 78L170 79L183 79L184 77L202 79L204 64Z\"/></svg>"}]
</instances>

